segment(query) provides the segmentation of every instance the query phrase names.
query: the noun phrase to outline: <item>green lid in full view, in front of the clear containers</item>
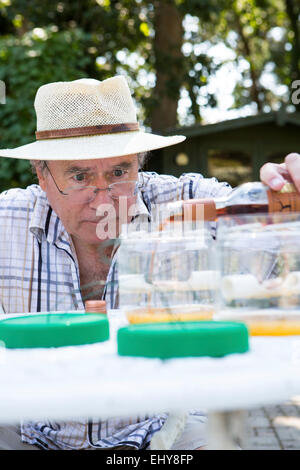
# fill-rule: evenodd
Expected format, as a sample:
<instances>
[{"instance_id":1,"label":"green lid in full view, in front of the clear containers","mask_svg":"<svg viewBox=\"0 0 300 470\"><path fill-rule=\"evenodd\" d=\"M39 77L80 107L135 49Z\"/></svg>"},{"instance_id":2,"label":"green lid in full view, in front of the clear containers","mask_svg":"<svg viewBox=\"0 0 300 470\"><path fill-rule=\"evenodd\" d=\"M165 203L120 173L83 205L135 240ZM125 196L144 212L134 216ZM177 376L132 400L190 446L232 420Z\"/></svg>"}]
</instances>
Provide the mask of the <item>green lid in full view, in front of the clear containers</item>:
<instances>
[{"instance_id":1,"label":"green lid in full view, in front of the clear containers","mask_svg":"<svg viewBox=\"0 0 300 470\"><path fill-rule=\"evenodd\" d=\"M136 324L118 331L121 356L212 356L248 351L248 329L237 322L180 322Z\"/></svg>"}]
</instances>

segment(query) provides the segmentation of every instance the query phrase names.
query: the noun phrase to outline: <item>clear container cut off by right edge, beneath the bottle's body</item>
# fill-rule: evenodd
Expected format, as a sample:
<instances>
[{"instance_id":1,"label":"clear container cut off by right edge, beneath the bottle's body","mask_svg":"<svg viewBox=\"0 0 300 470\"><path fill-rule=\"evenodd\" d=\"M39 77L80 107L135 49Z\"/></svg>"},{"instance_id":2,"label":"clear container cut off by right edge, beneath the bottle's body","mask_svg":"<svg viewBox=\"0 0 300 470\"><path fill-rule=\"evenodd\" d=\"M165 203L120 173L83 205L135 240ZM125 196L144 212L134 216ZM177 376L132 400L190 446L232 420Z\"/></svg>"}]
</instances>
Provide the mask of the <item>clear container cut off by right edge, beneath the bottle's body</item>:
<instances>
[{"instance_id":1,"label":"clear container cut off by right edge, beneath the bottle's body","mask_svg":"<svg viewBox=\"0 0 300 470\"><path fill-rule=\"evenodd\" d=\"M215 319L252 335L300 334L300 214L223 217L217 232Z\"/></svg>"}]
</instances>

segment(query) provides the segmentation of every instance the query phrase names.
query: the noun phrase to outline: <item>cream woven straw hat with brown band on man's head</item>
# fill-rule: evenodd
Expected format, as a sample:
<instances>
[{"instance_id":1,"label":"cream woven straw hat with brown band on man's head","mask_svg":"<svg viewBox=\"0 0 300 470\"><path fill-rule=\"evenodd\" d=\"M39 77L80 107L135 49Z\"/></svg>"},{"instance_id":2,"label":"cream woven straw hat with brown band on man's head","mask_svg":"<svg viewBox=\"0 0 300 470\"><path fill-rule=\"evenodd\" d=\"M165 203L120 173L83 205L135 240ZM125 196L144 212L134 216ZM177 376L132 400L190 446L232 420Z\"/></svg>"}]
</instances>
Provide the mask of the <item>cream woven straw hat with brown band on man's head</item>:
<instances>
[{"instance_id":1,"label":"cream woven straw hat with brown band on man's head","mask_svg":"<svg viewBox=\"0 0 300 470\"><path fill-rule=\"evenodd\" d=\"M41 86L34 107L36 142L0 150L30 160L85 160L146 152L182 142L139 130L124 77L80 79Z\"/></svg>"}]
</instances>

